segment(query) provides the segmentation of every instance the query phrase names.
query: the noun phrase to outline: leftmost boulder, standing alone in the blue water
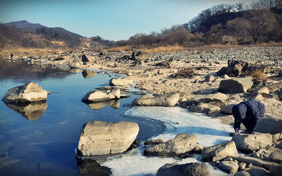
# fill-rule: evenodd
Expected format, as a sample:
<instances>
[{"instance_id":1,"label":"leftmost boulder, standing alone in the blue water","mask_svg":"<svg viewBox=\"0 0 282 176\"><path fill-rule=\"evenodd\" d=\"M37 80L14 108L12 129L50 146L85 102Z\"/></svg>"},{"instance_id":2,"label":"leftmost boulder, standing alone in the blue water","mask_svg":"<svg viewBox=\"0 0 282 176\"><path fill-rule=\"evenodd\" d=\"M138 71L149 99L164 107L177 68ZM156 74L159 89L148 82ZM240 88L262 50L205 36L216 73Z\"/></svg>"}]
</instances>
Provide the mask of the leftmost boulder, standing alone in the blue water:
<instances>
[{"instance_id":1,"label":"leftmost boulder, standing alone in the blue water","mask_svg":"<svg viewBox=\"0 0 282 176\"><path fill-rule=\"evenodd\" d=\"M43 90L41 86L30 82L21 86L9 89L3 96L5 102L15 103L29 103L36 101L45 101L47 98L47 91Z\"/></svg>"}]
</instances>

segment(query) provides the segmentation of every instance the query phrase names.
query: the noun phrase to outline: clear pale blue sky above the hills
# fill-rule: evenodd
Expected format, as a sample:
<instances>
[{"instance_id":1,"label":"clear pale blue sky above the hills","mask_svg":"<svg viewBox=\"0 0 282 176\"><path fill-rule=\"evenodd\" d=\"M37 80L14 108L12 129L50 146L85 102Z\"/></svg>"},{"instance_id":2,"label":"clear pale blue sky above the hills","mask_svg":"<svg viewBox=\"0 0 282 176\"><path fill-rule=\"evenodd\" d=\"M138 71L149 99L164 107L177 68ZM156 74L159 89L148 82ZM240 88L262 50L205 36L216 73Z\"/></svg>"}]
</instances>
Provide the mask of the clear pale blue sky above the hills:
<instances>
[{"instance_id":1,"label":"clear pale blue sky above the hills","mask_svg":"<svg viewBox=\"0 0 282 176\"><path fill-rule=\"evenodd\" d=\"M170 28L222 3L258 0L1 0L0 22L27 20L86 37L126 40L136 33Z\"/></svg>"}]
</instances>

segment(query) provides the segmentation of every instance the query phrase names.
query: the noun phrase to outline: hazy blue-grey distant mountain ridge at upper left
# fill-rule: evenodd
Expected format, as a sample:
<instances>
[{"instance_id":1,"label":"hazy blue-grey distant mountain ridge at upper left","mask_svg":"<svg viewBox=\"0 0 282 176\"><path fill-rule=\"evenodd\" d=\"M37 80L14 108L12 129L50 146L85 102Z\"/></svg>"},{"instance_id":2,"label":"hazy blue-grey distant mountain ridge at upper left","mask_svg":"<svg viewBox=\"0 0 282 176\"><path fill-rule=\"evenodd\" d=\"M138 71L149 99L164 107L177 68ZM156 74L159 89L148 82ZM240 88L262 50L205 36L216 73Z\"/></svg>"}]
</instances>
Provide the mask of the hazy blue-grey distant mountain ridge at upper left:
<instances>
[{"instance_id":1,"label":"hazy blue-grey distant mountain ridge at upper left","mask_svg":"<svg viewBox=\"0 0 282 176\"><path fill-rule=\"evenodd\" d=\"M19 29L23 30L24 32L33 32L33 33L35 33L38 28L49 28L47 26L41 25L40 23L30 23L26 20L13 21L13 22L10 22L10 23L5 23L5 24L10 25L10 26L15 26L16 28L19 28ZM58 30L67 32L71 36L74 36L74 37L77 37L77 38L85 38L82 35L70 32L70 31L68 31L64 28L55 27L54 29L58 29Z\"/></svg>"}]
</instances>

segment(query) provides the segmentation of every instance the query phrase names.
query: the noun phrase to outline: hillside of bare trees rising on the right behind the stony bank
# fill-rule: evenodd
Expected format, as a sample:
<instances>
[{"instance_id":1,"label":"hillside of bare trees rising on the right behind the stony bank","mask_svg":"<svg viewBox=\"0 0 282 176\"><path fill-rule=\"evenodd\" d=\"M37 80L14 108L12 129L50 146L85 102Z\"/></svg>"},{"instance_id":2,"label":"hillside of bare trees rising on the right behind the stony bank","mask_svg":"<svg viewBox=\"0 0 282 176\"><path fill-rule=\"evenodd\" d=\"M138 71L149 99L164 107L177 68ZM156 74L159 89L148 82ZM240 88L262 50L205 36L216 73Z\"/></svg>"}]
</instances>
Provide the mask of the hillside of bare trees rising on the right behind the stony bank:
<instances>
[{"instance_id":1,"label":"hillside of bare trees rising on the right behind the stony bank","mask_svg":"<svg viewBox=\"0 0 282 176\"><path fill-rule=\"evenodd\" d=\"M282 42L282 0L260 0L246 5L219 4L201 11L182 25L161 29L160 33L137 33L119 46L145 47L206 44L251 44Z\"/></svg>"}]
</instances>

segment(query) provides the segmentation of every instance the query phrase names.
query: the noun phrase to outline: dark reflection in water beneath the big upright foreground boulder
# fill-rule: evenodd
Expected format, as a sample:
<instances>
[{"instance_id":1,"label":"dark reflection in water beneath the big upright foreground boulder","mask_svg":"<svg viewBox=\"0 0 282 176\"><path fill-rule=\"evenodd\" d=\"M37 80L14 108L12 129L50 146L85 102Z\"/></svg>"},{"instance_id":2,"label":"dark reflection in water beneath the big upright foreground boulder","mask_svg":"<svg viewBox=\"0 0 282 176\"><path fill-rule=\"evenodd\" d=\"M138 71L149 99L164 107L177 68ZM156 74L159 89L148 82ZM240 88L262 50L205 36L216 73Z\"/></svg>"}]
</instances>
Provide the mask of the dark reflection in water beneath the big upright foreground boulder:
<instances>
[{"instance_id":1,"label":"dark reflection in water beneath the big upright foreground boulder","mask_svg":"<svg viewBox=\"0 0 282 176\"><path fill-rule=\"evenodd\" d=\"M94 159L80 159L76 158L77 167L83 176L108 176L112 174L111 169L101 166Z\"/></svg>"}]
</instances>

